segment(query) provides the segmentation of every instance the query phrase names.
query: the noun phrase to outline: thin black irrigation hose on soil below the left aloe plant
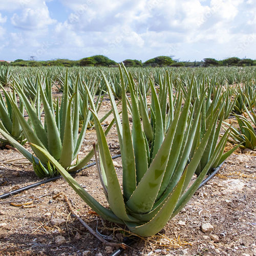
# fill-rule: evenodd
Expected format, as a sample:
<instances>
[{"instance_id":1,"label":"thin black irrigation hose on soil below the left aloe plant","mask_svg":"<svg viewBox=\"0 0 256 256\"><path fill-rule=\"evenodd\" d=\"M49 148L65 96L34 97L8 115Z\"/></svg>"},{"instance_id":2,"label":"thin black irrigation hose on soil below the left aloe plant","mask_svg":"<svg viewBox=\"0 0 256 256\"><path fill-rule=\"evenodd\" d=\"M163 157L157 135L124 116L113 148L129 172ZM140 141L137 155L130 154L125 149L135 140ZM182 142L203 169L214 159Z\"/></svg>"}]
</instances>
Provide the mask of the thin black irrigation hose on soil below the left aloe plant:
<instances>
[{"instance_id":1,"label":"thin black irrigation hose on soil below the left aloe plant","mask_svg":"<svg viewBox=\"0 0 256 256\"><path fill-rule=\"evenodd\" d=\"M121 155L113 156L112 159L116 159L116 158L118 158L118 157L120 157L120 156L121 156ZM87 168L89 168L89 167L91 167L91 166L93 166L93 165L95 165L95 164L96 164L96 162L90 163L90 164L88 164L88 165L82 167L81 169L76 170L75 172L71 173L71 175L78 174L79 172L81 172L81 170L87 169ZM42 180L42 181L40 181L40 182L37 182L37 183L31 184L31 185L28 185L28 186L26 186L26 187L18 188L18 189L13 190L13 191L11 191L11 192L9 192L9 193L5 193L5 194L1 195L1 196L0 196L0 199L5 199L5 198L8 198L8 197L10 197L10 196L12 196L12 195L19 194L19 193L21 193L21 192L23 192L23 191L25 191L25 190L30 189L30 188L37 187L37 186L40 186L40 185L42 185L42 184L46 184L46 183L51 182L51 181L58 180L58 179L61 178L61 177L62 177L61 175L58 175L58 176L56 176L56 177L53 177L53 178L50 178L50 179L47 179L47 180Z\"/></svg>"}]
</instances>

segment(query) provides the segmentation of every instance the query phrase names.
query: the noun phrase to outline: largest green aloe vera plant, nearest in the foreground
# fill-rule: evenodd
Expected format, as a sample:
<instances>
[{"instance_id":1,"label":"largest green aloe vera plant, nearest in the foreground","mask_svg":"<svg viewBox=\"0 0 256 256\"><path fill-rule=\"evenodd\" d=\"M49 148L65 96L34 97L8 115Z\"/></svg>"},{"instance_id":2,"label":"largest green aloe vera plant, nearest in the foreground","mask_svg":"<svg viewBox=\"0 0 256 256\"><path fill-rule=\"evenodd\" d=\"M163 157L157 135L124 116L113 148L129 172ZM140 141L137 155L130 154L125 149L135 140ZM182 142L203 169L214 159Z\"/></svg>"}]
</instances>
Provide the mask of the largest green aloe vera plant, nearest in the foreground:
<instances>
[{"instance_id":1,"label":"largest green aloe vera plant, nearest in the foreground","mask_svg":"<svg viewBox=\"0 0 256 256\"><path fill-rule=\"evenodd\" d=\"M120 67L119 67L120 68ZM95 128L99 150L99 175L103 191L109 202L109 208L103 207L86 190L84 190L69 173L44 148L33 145L56 167L76 193L102 218L125 224L131 231L143 237L159 232L170 218L173 218L193 196L201 181L215 161L226 142L228 131L221 138L198 178L189 186L196 168L203 156L204 149L212 131L216 129L217 116L212 116L193 158L188 163L193 138L200 120L203 98L197 109L191 108L190 101L193 86L190 86L182 108L182 92L179 93L177 109L165 135L156 134L154 154L150 154L145 133L140 120L138 95L131 74L124 68L131 92L131 102L125 95L124 78L120 68L122 87L122 122L118 114L114 95L110 84L102 74L110 95L113 114L120 143L122 157L122 185L120 187L115 167L110 155L108 143L99 118L97 117L93 98L90 96L91 111L95 120ZM156 106L156 122L161 121L162 114L159 99L153 92ZM196 101L198 101L196 99ZM130 107L131 106L131 107ZM129 109L133 118L132 131L129 125ZM155 126L158 127L157 125ZM187 164L188 163L188 164Z\"/></svg>"}]
</instances>

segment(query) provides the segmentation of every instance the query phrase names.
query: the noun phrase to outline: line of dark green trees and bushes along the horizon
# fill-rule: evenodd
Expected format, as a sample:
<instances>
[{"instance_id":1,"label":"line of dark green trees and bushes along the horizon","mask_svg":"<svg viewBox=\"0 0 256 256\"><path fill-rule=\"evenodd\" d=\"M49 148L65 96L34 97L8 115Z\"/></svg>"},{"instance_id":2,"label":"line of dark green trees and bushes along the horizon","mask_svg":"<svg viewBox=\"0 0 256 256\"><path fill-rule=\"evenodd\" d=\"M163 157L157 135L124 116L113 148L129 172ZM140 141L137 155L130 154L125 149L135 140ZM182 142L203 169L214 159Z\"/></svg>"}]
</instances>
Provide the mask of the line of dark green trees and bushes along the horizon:
<instances>
[{"instance_id":1,"label":"line of dark green trees and bushes along the horizon","mask_svg":"<svg viewBox=\"0 0 256 256\"><path fill-rule=\"evenodd\" d=\"M256 60L238 57L216 60L214 58L204 58L202 61L178 61L168 56L158 56L148 59L145 62L137 59L125 59L122 61L126 67L210 67L210 66L256 66ZM60 67L117 67L118 63L104 55L94 55L80 60L54 59L45 61L16 59L12 62L2 61L1 63L10 66L40 67L40 66L60 66Z\"/></svg>"}]
</instances>

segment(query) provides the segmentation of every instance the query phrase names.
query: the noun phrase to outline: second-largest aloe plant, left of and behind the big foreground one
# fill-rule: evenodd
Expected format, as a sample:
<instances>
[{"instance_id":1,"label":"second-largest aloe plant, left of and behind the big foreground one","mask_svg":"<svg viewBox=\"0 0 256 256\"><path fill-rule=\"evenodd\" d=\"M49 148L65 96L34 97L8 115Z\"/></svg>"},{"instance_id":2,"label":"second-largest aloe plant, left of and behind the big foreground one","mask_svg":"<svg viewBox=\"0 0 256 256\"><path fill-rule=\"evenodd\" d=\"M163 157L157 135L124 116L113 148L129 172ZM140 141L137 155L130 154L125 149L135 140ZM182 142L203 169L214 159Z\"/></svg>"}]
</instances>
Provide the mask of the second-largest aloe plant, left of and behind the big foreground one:
<instances>
[{"instance_id":1,"label":"second-largest aloe plant, left of and behind the big foreground one","mask_svg":"<svg viewBox=\"0 0 256 256\"><path fill-rule=\"evenodd\" d=\"M16 85L16 88L19 98L22 100L28 113L28 121L19 111L15 99L11 97L10 93L6 92L6 97L10 102L15 118L23 129L27 141L47 150L49 154L51 154L63 168L69 170L69 172L74 172L83 167L93 156L93 151L81 161L78 161L77 155L82 145L84 135L86 134L90 116L87 116L79 134L79 96L77 83L75 85L75 94L70 97L66 79L65 91L61 98L60 107L57 100L56 112L53 106L51 86L49 85L49 87L43 90L41 84L38 84L36 98L38 102L42 101L44 106L44 124L42 124L41 116L38 114L40 113L40 109L38 109L40 104L37 104L36 108L26 97L22 87ZM48 159L38 151L36 147L31 146L35 157L7 134L6 131L0 129L0 133L34 164L34 170L38 177L44 178L57 174L53 166L49 164ZM73 163L75 159L77 159L77 161Z\"/></svg>"}]
</instances>

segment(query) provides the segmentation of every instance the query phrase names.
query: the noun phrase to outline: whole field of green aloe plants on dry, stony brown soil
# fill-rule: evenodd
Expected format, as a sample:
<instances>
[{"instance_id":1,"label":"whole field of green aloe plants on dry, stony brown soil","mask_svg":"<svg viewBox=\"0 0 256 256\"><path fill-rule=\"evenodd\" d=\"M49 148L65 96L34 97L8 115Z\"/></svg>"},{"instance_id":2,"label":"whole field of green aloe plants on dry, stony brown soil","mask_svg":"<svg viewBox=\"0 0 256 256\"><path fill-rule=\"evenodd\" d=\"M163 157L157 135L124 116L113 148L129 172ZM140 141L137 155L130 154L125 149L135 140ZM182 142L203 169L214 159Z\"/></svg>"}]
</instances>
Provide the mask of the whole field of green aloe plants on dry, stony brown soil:
<instances>
[{"instance_id":1,"label":"whole field of green aloe plants on dry, stony brown soil","mask_svg":"<svg viewBox=\"0 0 256 256\"><path fill-rule=\"evenodd\" d=\"M256 253L255 81L0 66L0 253Z\"/></svg>"}]
</instances>

